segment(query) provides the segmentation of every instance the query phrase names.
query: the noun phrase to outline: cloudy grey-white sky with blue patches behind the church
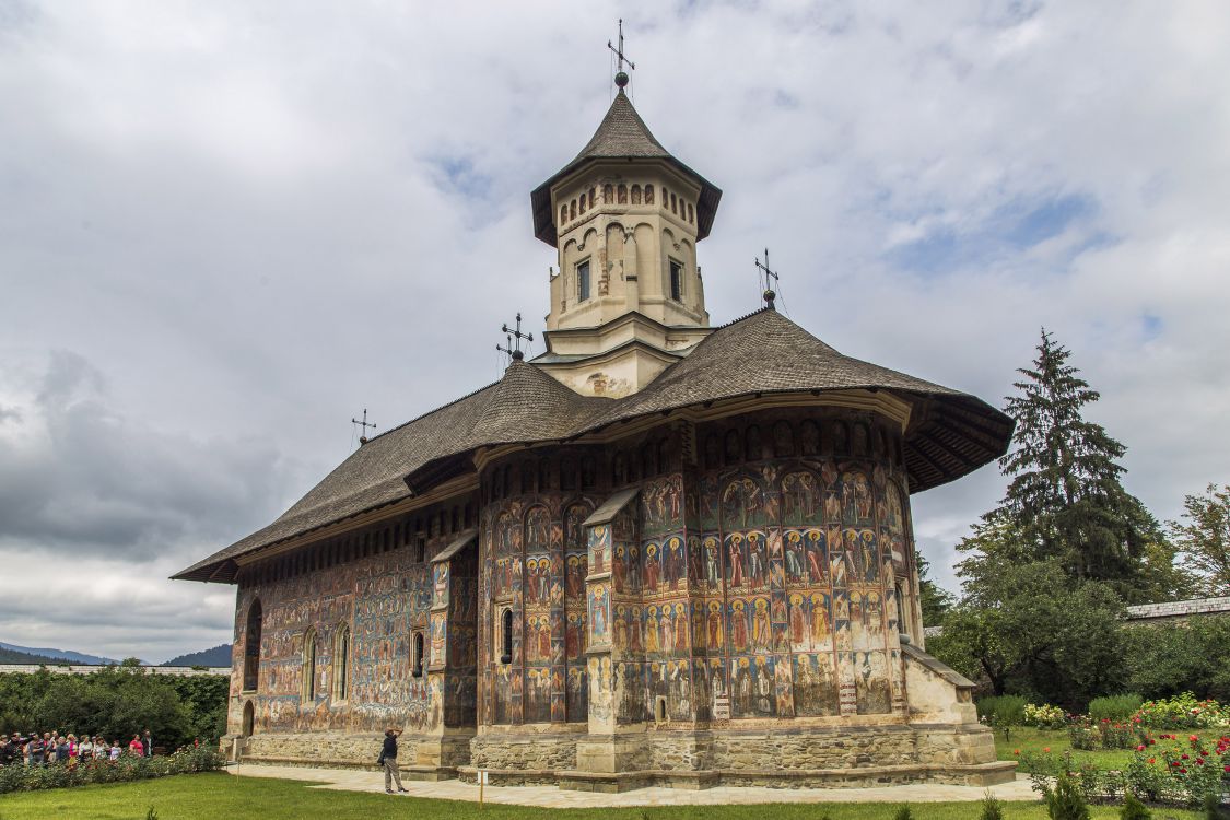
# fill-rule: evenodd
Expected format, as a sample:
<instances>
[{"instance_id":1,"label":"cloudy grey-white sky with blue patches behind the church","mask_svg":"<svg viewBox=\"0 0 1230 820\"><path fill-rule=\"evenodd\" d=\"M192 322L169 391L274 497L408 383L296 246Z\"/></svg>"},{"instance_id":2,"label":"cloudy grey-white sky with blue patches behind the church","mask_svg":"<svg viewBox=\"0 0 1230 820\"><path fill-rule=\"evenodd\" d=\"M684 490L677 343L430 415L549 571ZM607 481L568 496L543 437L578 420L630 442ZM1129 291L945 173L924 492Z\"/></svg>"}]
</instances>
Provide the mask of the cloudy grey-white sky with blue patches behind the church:
<instances>
[{"instance_id":1,"label":"cloudy grey-white sky with blue patches behind the church","mask_svg":"<svg viewBox=\"0 0 1230 820\"><path fill-rule=\"evenodd\" d=\"M1044 326L1162 520L1230 482L1230 4L0 0L0 641L161 661L169 575L547 312L529 192L632 100L723 191L722 323L1002 406ZM538 338L538 333L535 333ZM541 352L541 342L536 343ZM994 465L913 498L953 546Z\"/></svg>"}]
</instances>

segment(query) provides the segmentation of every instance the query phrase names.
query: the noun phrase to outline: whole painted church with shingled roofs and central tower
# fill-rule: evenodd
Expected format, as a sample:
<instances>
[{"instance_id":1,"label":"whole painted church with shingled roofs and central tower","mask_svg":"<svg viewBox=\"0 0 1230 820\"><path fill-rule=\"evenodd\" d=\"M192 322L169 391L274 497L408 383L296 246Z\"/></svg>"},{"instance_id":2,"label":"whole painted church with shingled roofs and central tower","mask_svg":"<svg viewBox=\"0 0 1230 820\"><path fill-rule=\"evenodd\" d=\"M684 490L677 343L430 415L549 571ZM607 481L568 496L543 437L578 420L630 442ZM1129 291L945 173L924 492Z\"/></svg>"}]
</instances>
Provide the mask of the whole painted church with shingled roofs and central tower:
<instances>
[{"instance_id":1,"label":"whole painted church with shingled roofs and central tower","mask_svg":"<svg viewBox=\"0 0 1230 820\"><path fill-rule=\"evenodd\" d=\"M909 498L1002 455L985 402L766 306L712 327L722 192L625 93L531 197L546 353L364 440L175 578L234 584L226 751L419 778L1011 779L926 654Z\"/></svg>"}]
</instances>

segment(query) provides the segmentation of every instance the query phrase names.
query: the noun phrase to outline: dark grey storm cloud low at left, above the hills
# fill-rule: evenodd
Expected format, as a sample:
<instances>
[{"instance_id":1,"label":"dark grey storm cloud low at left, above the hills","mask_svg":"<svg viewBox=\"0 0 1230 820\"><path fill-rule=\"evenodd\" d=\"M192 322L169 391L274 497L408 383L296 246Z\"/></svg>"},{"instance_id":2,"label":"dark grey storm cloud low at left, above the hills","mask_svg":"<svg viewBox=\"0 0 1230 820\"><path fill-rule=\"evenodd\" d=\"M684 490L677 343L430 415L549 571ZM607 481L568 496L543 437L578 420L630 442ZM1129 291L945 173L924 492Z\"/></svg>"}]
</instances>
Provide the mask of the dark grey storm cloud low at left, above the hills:
<instances>
[{"instance_id":1,"label":"dark grey storm cloud low at left, above the hills","mask_svg":"<svg viewBox=\"0 0 1230 820\"><path fill-rule=\"evenodd\" d=\"M277 509L285 482L269 443L134 422L108 407L97 368L55 350L0 438L0 543L148 559L188 538L244 535Z\"/></svg>"}]
</instances>

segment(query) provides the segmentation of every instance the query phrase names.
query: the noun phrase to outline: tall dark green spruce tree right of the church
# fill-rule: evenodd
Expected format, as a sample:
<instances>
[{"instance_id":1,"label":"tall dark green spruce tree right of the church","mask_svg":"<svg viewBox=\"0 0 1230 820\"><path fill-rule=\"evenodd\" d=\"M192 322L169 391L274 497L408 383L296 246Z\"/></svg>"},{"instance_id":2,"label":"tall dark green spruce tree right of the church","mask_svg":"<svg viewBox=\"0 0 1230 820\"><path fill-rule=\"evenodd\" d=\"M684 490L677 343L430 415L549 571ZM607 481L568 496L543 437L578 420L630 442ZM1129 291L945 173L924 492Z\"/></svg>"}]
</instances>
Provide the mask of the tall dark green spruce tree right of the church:
<instances>
[{"instance_id":1,"label":"tall dark green spruce tree right of the church","mask_svg":"<svg viewBox=\"0 0 1230 820\"><path fill-rule=\"evenodd\" d=\"M988 520L1017 531L1033 559L1057 559L1076 580L1111 581L1140 600L1144 558L1164 538L1121 483L1127 449L1084 417L1100 396L1070 357L1043 329L1033 366L1018 370L1020 392L1005 407L1016 419L1012 449L1000 460L1012 479Z\"/></svg>"}]
</instances>

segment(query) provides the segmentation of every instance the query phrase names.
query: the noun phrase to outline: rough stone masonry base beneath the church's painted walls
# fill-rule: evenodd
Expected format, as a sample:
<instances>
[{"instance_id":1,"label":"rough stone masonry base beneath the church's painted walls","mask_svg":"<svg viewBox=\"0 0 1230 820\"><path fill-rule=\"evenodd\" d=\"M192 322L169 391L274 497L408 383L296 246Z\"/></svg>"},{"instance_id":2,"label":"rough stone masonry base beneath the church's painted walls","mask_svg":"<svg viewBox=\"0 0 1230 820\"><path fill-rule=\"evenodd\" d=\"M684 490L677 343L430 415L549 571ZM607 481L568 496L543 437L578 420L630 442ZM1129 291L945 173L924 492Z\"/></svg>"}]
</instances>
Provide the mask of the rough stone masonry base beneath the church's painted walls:
<instances>
[{"instance_id":1,"label":"rough stone masonry base beneath the church's painted walls","mask_svg":"<svg viewBox=\"0 0 1230 820\"><path fill-rule=\"evenodd\" d=\"M379 735L261 734L242 761L375 768ZM458 777L485 771L493 786L551 784L626 792L649 786L851 788L905 783L985 787L1010 782L1016 763L995 760L989 729L973 725L855 725L668 729L616 735L492 733L475 738L402 738L403 776Z\"/></svg>"}]
</instances>

